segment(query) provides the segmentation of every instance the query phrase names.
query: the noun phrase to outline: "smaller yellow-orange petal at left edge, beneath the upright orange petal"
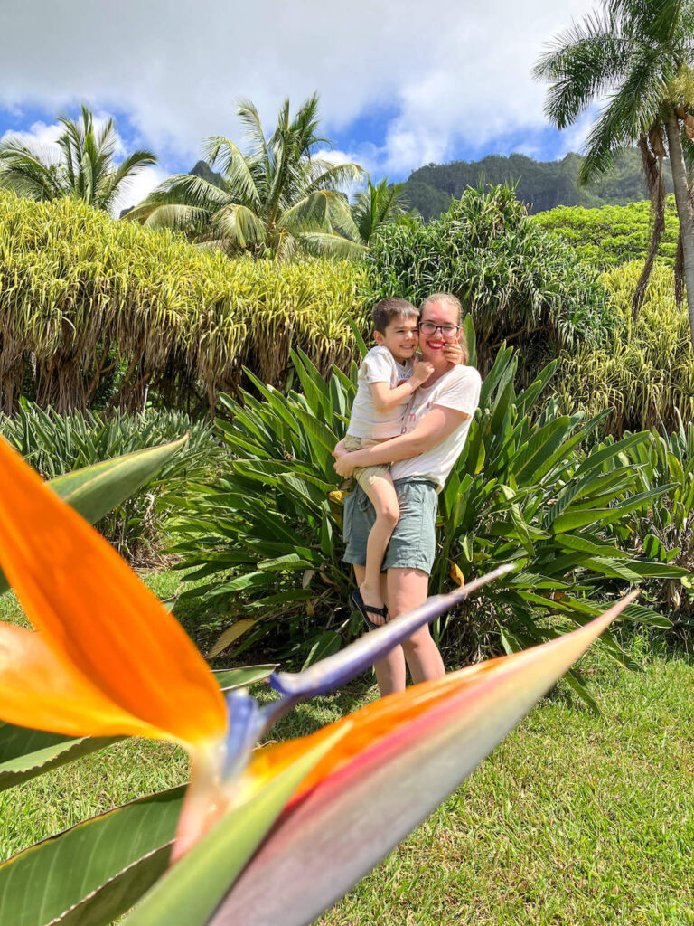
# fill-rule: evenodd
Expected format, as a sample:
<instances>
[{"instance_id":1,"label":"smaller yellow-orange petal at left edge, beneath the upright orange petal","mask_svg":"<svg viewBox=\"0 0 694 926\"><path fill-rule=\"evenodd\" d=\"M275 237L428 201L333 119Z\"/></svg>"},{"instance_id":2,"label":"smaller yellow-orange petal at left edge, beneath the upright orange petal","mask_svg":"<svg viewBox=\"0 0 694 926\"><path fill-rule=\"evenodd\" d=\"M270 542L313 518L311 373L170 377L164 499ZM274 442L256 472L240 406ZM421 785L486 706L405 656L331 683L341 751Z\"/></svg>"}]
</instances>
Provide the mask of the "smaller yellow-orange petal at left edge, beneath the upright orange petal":
<instances>
[{"instance_id":1,"label":"smaller yellow-orange petal at left edge, beneath the upright orange petal","mask_svg":"<svg viewBox=\"0 0 694 926\"><path fill-rule=\"evenodd\" d=\"M66 669L40 633L7 623L0 623L0 706L8 723L68 736L163 736Z\"/></svg>"}]
</instances>

